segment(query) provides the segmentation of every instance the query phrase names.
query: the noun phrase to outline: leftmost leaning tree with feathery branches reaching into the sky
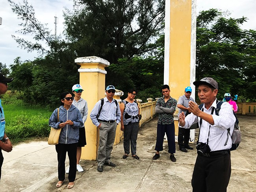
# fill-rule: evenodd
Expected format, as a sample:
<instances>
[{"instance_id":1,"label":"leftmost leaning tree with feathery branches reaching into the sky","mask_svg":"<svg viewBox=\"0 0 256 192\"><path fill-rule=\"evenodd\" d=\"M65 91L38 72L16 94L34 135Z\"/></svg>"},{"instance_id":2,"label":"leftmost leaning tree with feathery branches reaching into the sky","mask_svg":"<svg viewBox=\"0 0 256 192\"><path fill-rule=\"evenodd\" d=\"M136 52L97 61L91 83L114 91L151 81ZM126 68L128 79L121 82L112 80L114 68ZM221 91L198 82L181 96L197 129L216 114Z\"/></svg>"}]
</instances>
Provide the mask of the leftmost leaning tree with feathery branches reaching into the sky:
<instances>
[{"instance_id":1,"label":"leftmost leaning tree with feathery branches reaching into the sky","mask_svg":"<svg viewBox=\"0 0 256 192\"><path fill-rule=\"evenodd\" d=\"M47 25L35 18L33 6L27 0L23 0L23 4L8 1L22 20L22 28L17 32L32 35L34 42L16 36L13 38L21 48L39 53L39 58L32 62L16 59L11 66L11 75L15 78L11 86L23 93L26 103L58 107L59 94L70 91L72 85L78 83L78 66L74 63L76 53L60 37L55 39Z\"/></svg>"}]
</instances>

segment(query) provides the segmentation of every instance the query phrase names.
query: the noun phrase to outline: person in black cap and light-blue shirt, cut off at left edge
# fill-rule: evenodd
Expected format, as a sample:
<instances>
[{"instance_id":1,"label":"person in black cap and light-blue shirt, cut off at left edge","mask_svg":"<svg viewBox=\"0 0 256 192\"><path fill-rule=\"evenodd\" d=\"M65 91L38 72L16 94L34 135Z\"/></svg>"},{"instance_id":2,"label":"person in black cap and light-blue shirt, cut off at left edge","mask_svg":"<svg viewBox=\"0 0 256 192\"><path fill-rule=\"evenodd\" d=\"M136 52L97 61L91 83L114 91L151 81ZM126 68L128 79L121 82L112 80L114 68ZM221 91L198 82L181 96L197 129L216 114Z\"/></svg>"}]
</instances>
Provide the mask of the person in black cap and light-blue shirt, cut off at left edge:
<instances>
[{"instance_id":1,"label":"person in black cap and light-blue shirt, cut off at left edge","mask_svg":"<svg viewBox=\"0 0 256 192\"><path fill-rule=\"evenodd\" d=\"M5 76L3 76L0 73L0 95L6 93L6 91L8 89L7 83L10 83L11 81L13 81L13 78L6 78ZM6 122L5 122L5 118L4 118L4 109L2 107L1 100L0 100L0 112L1 112L1 118L0 118L0 120L1 120L1 124L0 124L0 179L1 179L1 169L2 169L2 164L4 162L2 150L6 151L6 152L10 152L13 149L13 146L5 132L5 123Z\"/></svg>"}]
</instances>

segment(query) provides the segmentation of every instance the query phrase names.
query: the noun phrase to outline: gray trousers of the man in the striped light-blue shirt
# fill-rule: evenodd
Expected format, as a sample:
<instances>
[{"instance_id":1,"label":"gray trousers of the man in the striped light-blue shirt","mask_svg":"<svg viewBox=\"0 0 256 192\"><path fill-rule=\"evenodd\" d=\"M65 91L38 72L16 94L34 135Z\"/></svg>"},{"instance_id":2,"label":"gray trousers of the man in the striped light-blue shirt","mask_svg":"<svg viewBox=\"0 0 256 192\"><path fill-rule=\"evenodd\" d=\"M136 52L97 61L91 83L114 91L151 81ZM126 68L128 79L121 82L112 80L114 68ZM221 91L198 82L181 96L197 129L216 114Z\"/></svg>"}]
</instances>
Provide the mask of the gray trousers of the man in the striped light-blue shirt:
<instances>
[{"instance_id":1,"label":"gray trousers of the man in the striped light-blue shirt","mask_svg":"<svg viewBox=\"0 0 256 192\"><path fill-rule=\"evenodd\" d=\"M104 162L109 162L115 141L115 130L117 129L116 122L106 123L100 121L100 123L100 142L97 157L98 166L103 165Z\"/></svg>"}]
</instances>

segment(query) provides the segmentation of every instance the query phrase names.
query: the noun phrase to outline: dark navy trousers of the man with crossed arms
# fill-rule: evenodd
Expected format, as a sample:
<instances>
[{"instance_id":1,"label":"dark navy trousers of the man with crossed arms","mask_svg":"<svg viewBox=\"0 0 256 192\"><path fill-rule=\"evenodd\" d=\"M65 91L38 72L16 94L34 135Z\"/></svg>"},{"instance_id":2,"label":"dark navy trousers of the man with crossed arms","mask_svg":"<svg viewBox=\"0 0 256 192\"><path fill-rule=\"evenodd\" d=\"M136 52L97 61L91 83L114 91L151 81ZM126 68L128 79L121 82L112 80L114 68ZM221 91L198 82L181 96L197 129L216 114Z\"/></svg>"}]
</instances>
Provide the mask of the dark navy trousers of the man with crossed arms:
<instances>
[{"instance_id":1,"label":"dark navy trousers of the man with crossed arms","mask_svg":"<svg viewBox=\"0 0 256 192\"><path fill-rule=\"evenodd\" d=\"M163 151L163 138L167 136L168 142L168 153L175 153L175 129L174 123L167 125L157 124L157 135L156 135L156 151Z\"/></svg>"}]
</instances>

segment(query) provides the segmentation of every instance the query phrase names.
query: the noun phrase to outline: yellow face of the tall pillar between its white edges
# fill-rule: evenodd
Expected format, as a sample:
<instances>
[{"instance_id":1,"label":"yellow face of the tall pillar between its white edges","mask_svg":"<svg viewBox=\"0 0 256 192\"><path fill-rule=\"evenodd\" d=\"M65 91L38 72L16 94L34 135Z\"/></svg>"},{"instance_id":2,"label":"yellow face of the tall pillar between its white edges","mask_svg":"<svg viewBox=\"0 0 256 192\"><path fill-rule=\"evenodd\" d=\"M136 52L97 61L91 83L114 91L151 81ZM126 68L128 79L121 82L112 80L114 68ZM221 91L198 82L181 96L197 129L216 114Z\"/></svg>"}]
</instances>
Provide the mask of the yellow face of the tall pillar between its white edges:
<instances>
[{"instance_id":1,"label":"yellow face of the tall pillar between its white edges","mask_svg":"<svg viewBox=\"0 0 256 192\"><path fill-rule=\"evenodd\" d=\"M171 0L169 86L178 100L190 86L191 0Z\"/></svg>"}]
</instances>

